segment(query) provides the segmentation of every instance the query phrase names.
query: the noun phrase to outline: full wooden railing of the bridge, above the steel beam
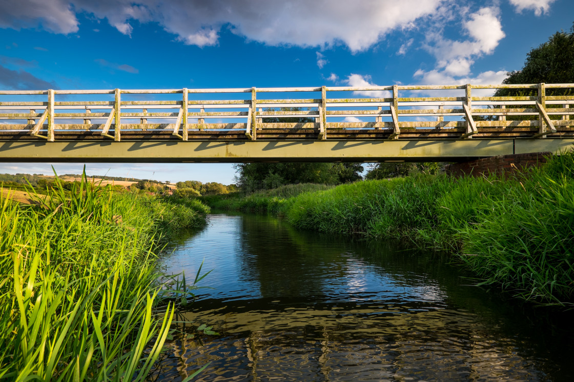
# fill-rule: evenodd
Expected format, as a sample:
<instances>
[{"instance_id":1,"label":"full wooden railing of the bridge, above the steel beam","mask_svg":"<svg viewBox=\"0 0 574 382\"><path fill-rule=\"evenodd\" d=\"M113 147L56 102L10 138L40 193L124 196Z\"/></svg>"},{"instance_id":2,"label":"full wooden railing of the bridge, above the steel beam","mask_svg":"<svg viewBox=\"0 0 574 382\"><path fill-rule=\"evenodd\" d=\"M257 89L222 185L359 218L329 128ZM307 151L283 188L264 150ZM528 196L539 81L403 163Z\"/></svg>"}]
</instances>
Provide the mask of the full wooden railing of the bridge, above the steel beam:
<instances>
[{"instance_id":1,"label":"full wooden railing of the bridge, above the steel beam","mask_svg":"<svg viewBox=\"0 0 574 382\"><path fill-rule=\"evenodd\" d=\"M574 84L0 90L0 139L569 137L573 103Z\"/></svg>"}]
</instances>

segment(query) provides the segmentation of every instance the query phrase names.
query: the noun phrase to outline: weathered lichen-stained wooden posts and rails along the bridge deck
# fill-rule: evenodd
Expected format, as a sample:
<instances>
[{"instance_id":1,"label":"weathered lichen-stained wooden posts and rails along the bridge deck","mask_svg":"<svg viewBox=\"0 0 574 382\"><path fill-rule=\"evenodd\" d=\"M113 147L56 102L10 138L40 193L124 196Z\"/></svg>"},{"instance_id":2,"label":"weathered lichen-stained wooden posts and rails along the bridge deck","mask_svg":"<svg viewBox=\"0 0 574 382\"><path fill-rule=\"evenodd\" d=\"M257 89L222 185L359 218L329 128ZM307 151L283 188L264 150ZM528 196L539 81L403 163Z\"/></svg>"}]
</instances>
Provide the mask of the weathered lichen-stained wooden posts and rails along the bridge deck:
<instances>
[{"instance_id":1,"label":"weathered lichen-stained wooden posts and rails along the bridge deck","mask_svg":"<svg viewBox=\"0 0 574 382\"><path fill-rule=\"evenodd\" d=\"M120 140L122 130L172 130L173 136L187 140L190 129L200 131L245 129L245 136L248 139L257 139L257 132L263 133L265 129L280 128L290 131L293 128L305 128L316 129L319 139L327 139L328 131L333 129L343 131L359 129L373 136L380 135L384 130L388 133L388 139L398 139L401 128L464 128L460 138L465 139L478 134L479 128L498 127L514 131L518 131L517 128L534 128L537 131L532 132L533 137L545 137L561 134L572 127L570 119L574 114L574 108L570 107L574 104L574 95L570 94L572 92L546 96L547 89L568 88L574 89L574 84L0 90L0 132L3 135L10 132L13 134L28 132L31 136L53 141L55 131L92 131L99 132L102 137ZM535 94L495 97L487 92L492 89L532 89L535 90ZM407 94L400 96L401 90ZM424 93L417 96L416 92L413 93L416 90L423 90ZM473 94L472 90L476 90L478 95ZM443 94L453 91L457 93L449 96ZM293 92L320 92L320 98L257 98L257 93ZM327 92L335 93L337 98L327 98ZM352 92L352 94L343 98L340 92ZM437 93L433 94L434 92ZM250 93L250 99L247 97L234 100L190 99L193 94L220 93ZM37 100L37 96L45 94L48 100ZM94 100L94 97L102 94L114 95L114 99ZM134 96L152 94L159 99L122 100L123 95L130 97L131 94ZM181 96L179 100L166 100L162 99L165 97L164 94L181 94ZM60 100L55 100L56 95L61 96ZM87 95L90 100L65 100L66 97L73 95ZM4 99L9 96L32 96L33 99L5 101ZM22 109L29 109L30 112L18 112ZM77 110L82 112L76 112ZM533 116L538 118L533 119ZM285 117L311 120L307 123L283 123L279 120ZM359 117L374 119L374 122L358 120ZM420 120L429 117L435 120ZM445 117L451 120L445 120ZM510 120L507 120L507 117L510 117ZM264 118L267 119L265 123ZM269 118L276 119L269 120ZM408 120L409 118L411 120ZM73 122L78 119L83 119L84 123L79 125ZM102 120L105 123L92 124L92 119ZM148 119L157 121L148 122ZM206 119L216 121L205 123ZM239 122L221 123L219 119L235 119ZM18 120L27 123L6 123ZM134 120L139 120L139 123L133 123ZM60 123L56 124L56 121ZM557 127L561 129L560 132L557 131ZM113 131L114 135L110 135L110 131Z\"/></svg>"}]
</instances>

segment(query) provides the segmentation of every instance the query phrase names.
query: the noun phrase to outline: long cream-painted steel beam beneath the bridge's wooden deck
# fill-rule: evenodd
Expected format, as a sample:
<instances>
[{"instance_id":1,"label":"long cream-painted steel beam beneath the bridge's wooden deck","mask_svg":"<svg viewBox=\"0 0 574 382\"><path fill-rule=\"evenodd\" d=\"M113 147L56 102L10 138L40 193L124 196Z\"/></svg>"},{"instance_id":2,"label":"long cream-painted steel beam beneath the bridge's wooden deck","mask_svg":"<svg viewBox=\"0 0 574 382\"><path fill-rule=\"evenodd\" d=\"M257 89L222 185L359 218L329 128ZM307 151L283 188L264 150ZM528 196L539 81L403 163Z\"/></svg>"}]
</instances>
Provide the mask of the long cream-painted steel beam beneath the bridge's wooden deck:
<instances>
[{"instance_id":1,"label":"long cream-painted steel beam beneath the bridge's wooden deck","mask_svg":"<svg viewBox=\"0 0 574 382\"><path fill-rule=\"evenodd\" d=\"M574 139L54 141L0 143L0 162L463 161L561 150Z\"/></svg>"}]
</instances>

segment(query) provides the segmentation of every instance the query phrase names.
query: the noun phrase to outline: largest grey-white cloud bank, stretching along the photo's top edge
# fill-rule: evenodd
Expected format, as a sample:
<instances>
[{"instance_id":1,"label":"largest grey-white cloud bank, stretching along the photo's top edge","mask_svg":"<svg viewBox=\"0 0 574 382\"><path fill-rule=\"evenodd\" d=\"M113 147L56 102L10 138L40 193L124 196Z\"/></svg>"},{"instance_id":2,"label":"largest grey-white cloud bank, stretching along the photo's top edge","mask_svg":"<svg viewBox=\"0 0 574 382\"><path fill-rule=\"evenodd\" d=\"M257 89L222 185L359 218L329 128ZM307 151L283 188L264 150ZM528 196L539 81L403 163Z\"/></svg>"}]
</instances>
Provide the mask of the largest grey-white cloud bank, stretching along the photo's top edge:
<instances>
[{"instance_id":1,"label":"largest grey-white cloud bank, stretching along the photo's top edge","mask_svg":"<svg viewBox=\"0 0 574 382\"><path fill-rule=\"evenodd\" d=\"M76 13L107 19L123 34L131 23L156 22L177 40L216 45L222 27L268 45L368 49L387 33L413 27L450 0L20 0L0 2L0 26L41 26L55 33L78 30Z\"/></svg>"}]
</instances>

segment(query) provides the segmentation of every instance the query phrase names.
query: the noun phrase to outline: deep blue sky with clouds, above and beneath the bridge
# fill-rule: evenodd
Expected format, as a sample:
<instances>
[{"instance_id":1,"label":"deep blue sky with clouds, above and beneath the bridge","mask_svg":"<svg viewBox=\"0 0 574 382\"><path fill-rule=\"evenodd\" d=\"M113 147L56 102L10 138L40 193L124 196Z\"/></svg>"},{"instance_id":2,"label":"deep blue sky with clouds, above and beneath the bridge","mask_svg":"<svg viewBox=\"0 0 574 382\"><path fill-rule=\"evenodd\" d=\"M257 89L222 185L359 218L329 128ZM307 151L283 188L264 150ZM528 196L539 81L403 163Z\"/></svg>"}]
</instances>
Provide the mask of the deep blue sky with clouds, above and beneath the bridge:
<instances>
[{"instance_id":1,"label":"deep blue sky with clouds, above and beneath the bridge","mask_svg":"<svg viewBox=\"0 0 574 382\"><path fill-rule=\"evenodd\" d=\"M573 21L572 0L0 0L0 89L500 84ZM0 173L51 166L0 163ZM223 163L86 171L172 183L235 175Z\"/></svg>"}]
</instances>

